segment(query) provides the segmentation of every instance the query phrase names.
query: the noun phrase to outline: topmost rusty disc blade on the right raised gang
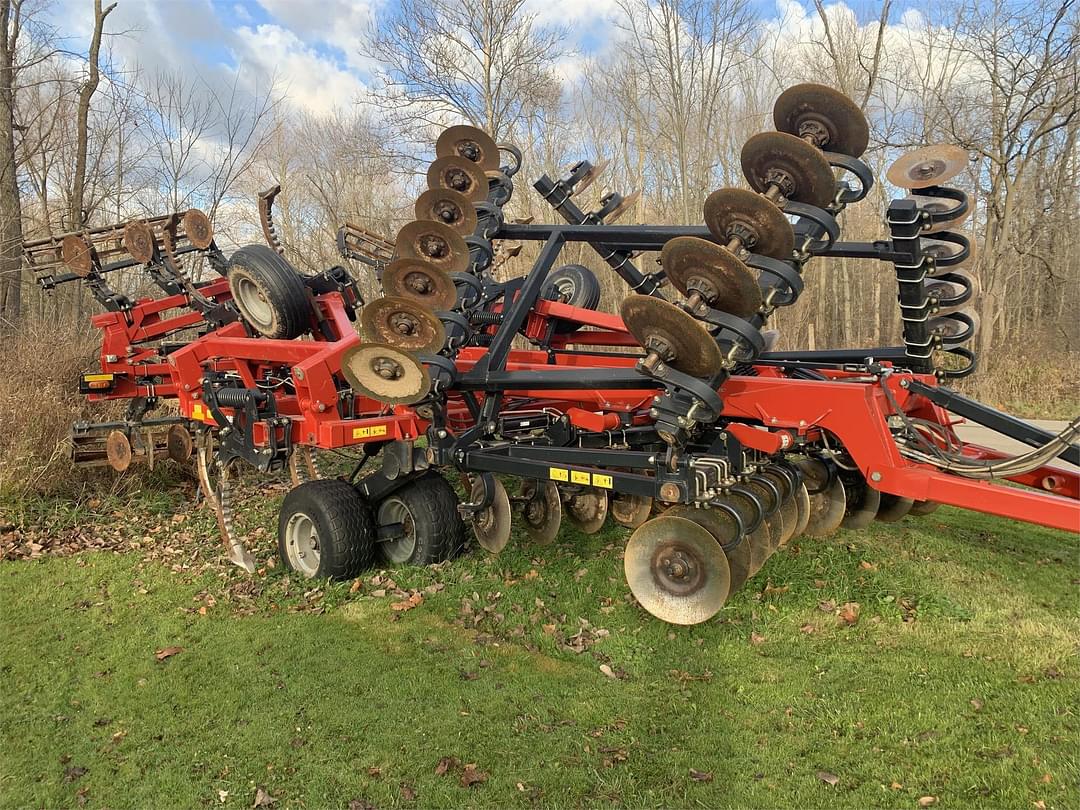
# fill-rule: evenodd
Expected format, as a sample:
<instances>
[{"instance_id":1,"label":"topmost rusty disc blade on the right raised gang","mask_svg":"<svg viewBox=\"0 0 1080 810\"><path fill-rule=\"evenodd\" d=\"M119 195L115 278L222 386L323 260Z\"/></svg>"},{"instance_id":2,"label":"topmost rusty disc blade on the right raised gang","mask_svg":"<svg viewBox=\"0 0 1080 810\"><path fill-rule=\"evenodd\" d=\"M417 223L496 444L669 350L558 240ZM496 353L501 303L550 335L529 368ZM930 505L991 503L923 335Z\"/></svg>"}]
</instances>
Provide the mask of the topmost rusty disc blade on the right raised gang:
<instances>
[{"instance_id":1,"label":"topmost rusty disc blade on the right raised gang","mask_svg":"<svg viewBox=\"0 0 1080 810\"><path fill-rule=\"evenodd\" d=\"M810 136L819 149L862 157L869 143L866 116L848 96L824 84L796 84L777 98L772 122L778 130Z\"/></svg>"}]
</instances>

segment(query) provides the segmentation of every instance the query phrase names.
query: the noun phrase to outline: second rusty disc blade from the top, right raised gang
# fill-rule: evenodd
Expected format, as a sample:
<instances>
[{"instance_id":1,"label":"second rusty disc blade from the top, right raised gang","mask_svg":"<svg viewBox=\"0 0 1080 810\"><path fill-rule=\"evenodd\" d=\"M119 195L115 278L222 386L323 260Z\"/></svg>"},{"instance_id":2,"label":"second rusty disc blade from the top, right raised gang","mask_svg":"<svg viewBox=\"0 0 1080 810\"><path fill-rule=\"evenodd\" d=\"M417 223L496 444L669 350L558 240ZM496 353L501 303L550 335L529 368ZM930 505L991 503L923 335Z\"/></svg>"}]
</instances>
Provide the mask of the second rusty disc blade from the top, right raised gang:
<instances>
[{"instance_id":1,"label":"second rusty disc blade from the top, right raised gang","mask_svg":"<svg viewBox=\"0 0 1080 810\"><path fill-rule=\"evenodd\" d=\"M772 185L788 200L826 207L836 197L836 178L820 149L785 132L759 132L743 146L743 175L755 191Z\"/></svg>"}]
</instances>

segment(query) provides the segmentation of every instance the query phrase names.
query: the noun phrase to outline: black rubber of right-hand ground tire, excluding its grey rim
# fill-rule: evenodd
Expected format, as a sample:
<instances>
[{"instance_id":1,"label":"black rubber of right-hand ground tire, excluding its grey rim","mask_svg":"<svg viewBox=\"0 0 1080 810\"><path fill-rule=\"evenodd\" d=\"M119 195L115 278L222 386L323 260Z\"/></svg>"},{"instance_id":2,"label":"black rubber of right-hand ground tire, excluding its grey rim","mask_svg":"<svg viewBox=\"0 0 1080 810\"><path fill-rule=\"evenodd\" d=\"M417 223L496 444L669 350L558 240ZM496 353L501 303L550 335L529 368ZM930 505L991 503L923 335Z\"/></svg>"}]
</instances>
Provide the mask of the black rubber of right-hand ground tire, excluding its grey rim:
<instances>
[{"instance_id":1,"label":"black rubber of right-hand ground tire, excluding its grey rim","mask_svg":"<svg viewBox=\"0 0 1080 810\"><path fill-rule=\"evenodd\" d=\"M431 565L458 556L464 549L465 522L458 512L458 494L442 475L429 472L379 501L376 524L387 501L405 507L413 521L416 545L407 559L392 559L384 543L376 543L379 557L394 565Z\"/></svg>"}]
</instances>

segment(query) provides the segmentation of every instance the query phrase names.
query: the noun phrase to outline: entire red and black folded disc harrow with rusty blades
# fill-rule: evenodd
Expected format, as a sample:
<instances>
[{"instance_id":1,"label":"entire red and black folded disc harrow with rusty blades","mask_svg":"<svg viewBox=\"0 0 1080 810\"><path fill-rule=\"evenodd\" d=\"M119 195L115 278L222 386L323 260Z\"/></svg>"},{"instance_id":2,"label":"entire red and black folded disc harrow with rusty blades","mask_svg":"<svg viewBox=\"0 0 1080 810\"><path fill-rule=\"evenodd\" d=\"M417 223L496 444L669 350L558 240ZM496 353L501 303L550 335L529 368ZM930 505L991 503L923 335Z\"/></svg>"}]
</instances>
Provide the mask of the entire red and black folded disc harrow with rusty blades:
<instances>
[{"instance_id":1,"label":"entire red and black folded disc harrow with rusty blades","mask_svg":"<svg viewBox=\"0 0 1080 810\"><path fill-rule=\"evenodd\" d=\"M288 470L280 546L306 577L356 576L377 556L450 559L467 527L497 554L515 515L538 544L610 517L632 530L634 597L679 624L714 617L798 538L939 503L1076 531L1080 480L1052 462L1080 463L1080 420L1052 435L945 386L975 367L978 281L956 230L970 206L944 185L967 156L932 146L901 157L887 172L902 190L887 238L845 241L838 215L874 184L861 110L799 84L778 98L773 124L742 150L748 188L717 189L701 225L679 226L618 224L635 193L581 207L605 166L589 161L532 185L563 221L510 219L521 151L451 126L393 240L356 225L338 233L341 255L381 286L367 302L347 269L303 276L285 259L278 187L259 197L269 246L229 257L192 212L31 243L44 286L82 281L109 310L94 321L104 345L102 373L84 380L91 399L178 408L160 424L144 408L80 427L95 443L80 460L121 469L194 448L227 553L248 570L230 477L243 463ZM515 273L527 243L535 259ZM593 270L559 264L570 243L625 283L618 315L600 308ZM197 252L218 278L178 267ZM651 253L659 267L647 271L637 260ZM831 258L891 267L903 346L775 350L769 319L802 294L811 260L826 272ZM107 273L137 266L163 297L103 292ZM956 416L1031 449L964 444ZM362 458L348 482L327 480L320 449Z\"/></svg>"}]
</instances>

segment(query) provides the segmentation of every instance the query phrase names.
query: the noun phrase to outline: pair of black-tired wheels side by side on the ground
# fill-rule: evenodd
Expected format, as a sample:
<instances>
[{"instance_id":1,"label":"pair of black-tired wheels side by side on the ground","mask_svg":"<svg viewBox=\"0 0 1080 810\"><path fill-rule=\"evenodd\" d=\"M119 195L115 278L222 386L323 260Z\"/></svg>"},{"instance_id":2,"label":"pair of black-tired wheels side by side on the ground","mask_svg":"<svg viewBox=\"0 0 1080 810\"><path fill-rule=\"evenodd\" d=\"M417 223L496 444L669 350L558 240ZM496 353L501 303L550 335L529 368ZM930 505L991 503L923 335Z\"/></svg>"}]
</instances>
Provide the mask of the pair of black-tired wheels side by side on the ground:
<instances>
[{"instance_id":1,"label":"pair of black-tired wheels side by side on the ground","mask_svg":"<svg viewBox=\"0 0 1080 810\"><path fill-rule=\"evenodd\" d=\"M369 503L345 481L309 481L285 496L278 551L285 566L311 579L354 579L379 562L430 565L464 546L458 497L428 473Z\"/></svg>"}]
</instances>

